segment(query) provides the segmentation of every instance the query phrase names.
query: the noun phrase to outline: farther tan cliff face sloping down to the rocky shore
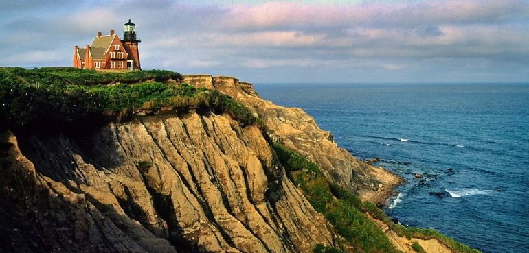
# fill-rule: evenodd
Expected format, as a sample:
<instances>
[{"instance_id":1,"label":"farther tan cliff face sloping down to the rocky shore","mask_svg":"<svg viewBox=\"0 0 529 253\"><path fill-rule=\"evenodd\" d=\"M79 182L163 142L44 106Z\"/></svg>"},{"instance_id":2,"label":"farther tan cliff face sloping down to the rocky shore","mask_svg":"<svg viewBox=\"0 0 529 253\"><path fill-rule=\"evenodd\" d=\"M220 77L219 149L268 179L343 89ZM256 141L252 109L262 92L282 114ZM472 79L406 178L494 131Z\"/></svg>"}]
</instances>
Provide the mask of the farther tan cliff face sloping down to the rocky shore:
<instances>
[{"instance_id":1,"label":"farther tan cliff face sloping down to the rocky shore","mask_svg":"<svg viewBox=\"0 0 529 253\"><path fill-rule=\"evenodd\" d=\"M245 104L260 117L270 136L326 171L332 182L358 193L362 200L381 204L401 180L381 167L358 160L337 146L330 132L321 130L301 108L285 108L261 99L251 84L233 77L186 75L183 82L216 88Z\"/></svg>"}]
</instances>

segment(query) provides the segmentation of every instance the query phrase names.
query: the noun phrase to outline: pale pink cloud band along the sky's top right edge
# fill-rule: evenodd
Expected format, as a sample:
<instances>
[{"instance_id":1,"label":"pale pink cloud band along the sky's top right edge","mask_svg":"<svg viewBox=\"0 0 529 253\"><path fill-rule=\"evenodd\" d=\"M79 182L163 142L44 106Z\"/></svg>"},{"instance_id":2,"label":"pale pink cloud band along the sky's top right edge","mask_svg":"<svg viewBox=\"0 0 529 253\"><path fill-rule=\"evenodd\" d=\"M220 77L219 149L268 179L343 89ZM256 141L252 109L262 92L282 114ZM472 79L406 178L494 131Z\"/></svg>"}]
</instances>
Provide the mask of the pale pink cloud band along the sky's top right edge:
<instances>
[{"instance_id":1,"label":"pale pink cloud band along the sky's top right edge","mask_svg":"<svg viewBox=\"0 0 529 253\"><path fill-rule=\"evenodd\" d=\"M527 16L529 4L517 0L449 0L422 3L363 3L351 5L271 2L235 5L221 26L233 29L335 27L354 25L421 25L504 21Z\"/></svg>"}]
</instances>

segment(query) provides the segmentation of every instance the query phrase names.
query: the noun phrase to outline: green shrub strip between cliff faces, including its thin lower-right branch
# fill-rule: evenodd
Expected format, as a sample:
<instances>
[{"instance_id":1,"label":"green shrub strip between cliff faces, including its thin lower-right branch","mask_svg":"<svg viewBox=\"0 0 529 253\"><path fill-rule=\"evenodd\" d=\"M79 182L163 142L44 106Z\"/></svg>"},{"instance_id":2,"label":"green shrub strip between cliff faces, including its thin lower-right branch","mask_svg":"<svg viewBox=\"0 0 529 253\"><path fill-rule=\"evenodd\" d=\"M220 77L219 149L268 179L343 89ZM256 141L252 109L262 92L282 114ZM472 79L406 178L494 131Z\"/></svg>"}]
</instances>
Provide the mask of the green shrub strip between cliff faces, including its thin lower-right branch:
<instances>
[{"instance_id":1,"label":"green shrub strip between cliff faces, including its thin lower-right branch","mask_svg":"<svg viewBox=\"0 0 529 253\"><path fill-rule=\"evenodd\" d=\"M438 239L457 253L479 253L479 250L427 228L413 228L395 224L383 211L370 202L361 202L350 191L330 184L313 162L290 149L273 143L282 165L289 176L305 193L315 210L325 215L337 232L352 244L357 252L398 252L394 245L365 214L383 221L397 234L409 238ZM414 246L414 250L420 250ZM334 252L331 248L317 248L315 252Z\"/></svg>"}]
</instances>

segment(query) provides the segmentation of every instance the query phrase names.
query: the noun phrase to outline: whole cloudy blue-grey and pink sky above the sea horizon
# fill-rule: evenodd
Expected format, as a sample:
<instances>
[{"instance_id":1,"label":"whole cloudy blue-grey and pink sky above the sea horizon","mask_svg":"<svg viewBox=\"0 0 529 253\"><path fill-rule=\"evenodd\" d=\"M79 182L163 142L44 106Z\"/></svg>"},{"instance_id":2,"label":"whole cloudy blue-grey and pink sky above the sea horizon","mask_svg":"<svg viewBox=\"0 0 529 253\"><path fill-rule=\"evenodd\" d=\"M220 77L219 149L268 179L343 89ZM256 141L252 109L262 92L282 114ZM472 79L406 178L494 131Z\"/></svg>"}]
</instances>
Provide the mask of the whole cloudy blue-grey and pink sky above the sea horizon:
<instances>
[{"instance_id":1,"label":"whole cloudy blue-grey and pink sky above the sea horizon","mask_svg":"<svg viewBox=\"0 0 529 253\"><path fill-rule=\"evenodd\" d=\"M144 69L266 82L529 82L529 1L0 0L0 66L136 24Z\"/></svg>"}]
</instances>

